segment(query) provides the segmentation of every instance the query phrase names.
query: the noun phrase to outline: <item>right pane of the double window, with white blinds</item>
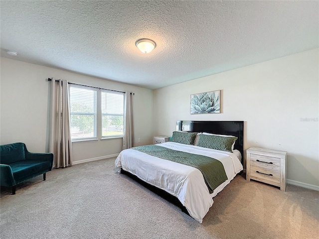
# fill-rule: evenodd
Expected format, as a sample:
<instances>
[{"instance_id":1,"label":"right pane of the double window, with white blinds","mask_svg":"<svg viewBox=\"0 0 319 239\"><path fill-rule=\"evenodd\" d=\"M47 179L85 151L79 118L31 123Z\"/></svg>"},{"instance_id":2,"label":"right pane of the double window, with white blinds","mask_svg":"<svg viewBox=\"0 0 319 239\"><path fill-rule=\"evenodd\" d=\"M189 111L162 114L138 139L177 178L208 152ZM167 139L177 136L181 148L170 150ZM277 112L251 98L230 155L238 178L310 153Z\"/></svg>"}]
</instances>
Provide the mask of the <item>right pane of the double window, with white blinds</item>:
<instances>
[{"instance_id":1,"label":"right pane of the double window, with white blinds","mask_svg":"<svg viewBox=\"0 0 319 239\"><path fill-rule=\"evenodd\" d=\"M102 137L123 136L124 93L102 91Z\"/></svg>"}]
</instances>

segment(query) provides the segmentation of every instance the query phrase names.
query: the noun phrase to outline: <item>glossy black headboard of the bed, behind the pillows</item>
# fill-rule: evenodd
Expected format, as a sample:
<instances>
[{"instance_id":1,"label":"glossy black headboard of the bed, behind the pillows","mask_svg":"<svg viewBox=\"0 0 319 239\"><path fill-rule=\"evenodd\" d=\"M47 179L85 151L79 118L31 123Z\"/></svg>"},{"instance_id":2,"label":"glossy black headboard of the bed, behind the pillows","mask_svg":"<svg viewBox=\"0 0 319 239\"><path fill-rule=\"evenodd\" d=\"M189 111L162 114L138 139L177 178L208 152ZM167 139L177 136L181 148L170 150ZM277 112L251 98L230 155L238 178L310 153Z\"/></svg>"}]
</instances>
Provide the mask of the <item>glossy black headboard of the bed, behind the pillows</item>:
<instances>
[{"instance_id":1,"label":"glossy black headboard of the bed, behind the pillows","mask_svg":"<svg viewBox=\"0 0 319 239\"><path fill-rule=\"evenodd\" d=\"M238 139L235 142L234 149L239 150L242 158L244 157L244 121L176 120L176 130L236 136Z\"/></svg>"}]
</instances>

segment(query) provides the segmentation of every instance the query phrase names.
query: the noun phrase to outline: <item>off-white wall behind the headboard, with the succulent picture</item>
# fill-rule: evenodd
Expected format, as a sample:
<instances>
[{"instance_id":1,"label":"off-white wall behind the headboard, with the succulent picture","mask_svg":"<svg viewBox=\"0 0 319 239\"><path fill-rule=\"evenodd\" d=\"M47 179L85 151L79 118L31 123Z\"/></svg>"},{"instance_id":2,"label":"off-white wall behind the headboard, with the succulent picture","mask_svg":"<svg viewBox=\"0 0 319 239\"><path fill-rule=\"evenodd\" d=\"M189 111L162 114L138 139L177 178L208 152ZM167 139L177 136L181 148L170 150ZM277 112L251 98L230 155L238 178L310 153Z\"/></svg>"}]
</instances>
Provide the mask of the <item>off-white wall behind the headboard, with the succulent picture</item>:
<instances>
[{"instance_id":1,"label":"off-white wall behind the headboard, with the succulent picture","mask_svg":"<svg viewBox=\"0 0 319 239\"><path fill-rule=\"evenodd\" d=\"M190 95L214 90L223 113L190 115ZM176 120L244 120L245 149L287 151L287 178L319 186L318 49L155 90L153 108L155 134L171 135Z\"/></svg>"}]
</instances>

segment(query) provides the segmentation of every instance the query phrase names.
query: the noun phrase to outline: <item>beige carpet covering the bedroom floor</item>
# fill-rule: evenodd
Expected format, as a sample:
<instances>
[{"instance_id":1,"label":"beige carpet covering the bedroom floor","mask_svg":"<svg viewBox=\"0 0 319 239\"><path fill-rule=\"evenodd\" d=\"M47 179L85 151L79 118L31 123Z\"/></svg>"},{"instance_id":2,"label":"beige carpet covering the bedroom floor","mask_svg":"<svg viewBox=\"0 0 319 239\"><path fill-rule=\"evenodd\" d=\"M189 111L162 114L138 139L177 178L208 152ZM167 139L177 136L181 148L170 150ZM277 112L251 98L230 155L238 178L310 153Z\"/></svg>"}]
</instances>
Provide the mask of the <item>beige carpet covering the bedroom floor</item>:
<instances>
[{"instance_id":1,"label":"beige carpet covering the bedroom floor","mask_svg":"<svg viewBox=\"0 0 319 239\"><path fill-rule=\"evenodd\" d=\"M319 192L287 192L236 178L199 224L114 171L114 160L78 164L1 189L1 239L315 239Z\"/></svg>"}]
</instances>

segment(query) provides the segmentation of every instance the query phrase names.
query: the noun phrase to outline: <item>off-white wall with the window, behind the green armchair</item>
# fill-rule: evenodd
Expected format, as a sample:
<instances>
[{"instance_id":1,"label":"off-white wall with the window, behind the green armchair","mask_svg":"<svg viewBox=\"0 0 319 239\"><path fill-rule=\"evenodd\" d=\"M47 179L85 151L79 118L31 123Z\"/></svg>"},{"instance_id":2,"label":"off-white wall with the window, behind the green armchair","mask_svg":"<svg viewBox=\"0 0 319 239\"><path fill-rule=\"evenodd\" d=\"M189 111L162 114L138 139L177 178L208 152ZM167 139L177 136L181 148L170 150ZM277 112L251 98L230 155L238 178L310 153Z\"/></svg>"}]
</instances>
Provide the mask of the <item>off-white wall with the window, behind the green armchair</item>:
<instances>
[{"instance_id":1,"label":"off-white wall with the window, behind the green armchair","mask_svg":"<svg viewBox=\"0 0 319 239\"><path fill-rule=\"evenodd\" d=\"M0 66L0 144L24 142L29 151L48 150L50 83L47 78L51 77L66 79L72 83L134 92L136 145L153 142L152 90L3 57ZM141 138L141 142L138 142L138 138ZM119 153L122 150L122 138L73 143L72 146L76 162Z\"/></svg>"}]
</instances>

